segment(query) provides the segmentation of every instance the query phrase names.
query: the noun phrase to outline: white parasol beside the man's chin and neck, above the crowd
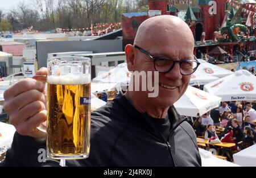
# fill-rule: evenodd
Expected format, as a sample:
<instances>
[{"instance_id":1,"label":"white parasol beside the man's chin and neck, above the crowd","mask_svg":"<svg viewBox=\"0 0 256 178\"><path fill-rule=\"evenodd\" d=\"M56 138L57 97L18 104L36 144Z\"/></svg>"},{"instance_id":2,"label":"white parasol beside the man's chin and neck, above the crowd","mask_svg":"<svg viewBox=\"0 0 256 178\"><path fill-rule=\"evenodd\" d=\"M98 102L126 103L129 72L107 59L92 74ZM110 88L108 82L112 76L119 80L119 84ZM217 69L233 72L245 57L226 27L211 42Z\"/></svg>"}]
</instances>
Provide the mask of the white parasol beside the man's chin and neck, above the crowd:
<instances>
[{"instance_id":1,"label":"white parasol beside the man's chin and neck, above the crowd","mask_svg":"<svg viewBox=\"0 0 256 178\"><path fill-rule=\"evenodd\" d=\"M203 90L188 86L183 96L175 102L174 106L179 114L196 117L203 115L220 105L221 98L204 92Z\"/></svg>"}]
</instances>

